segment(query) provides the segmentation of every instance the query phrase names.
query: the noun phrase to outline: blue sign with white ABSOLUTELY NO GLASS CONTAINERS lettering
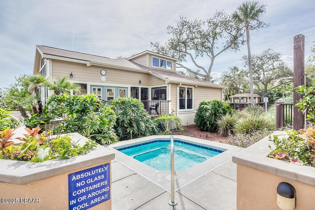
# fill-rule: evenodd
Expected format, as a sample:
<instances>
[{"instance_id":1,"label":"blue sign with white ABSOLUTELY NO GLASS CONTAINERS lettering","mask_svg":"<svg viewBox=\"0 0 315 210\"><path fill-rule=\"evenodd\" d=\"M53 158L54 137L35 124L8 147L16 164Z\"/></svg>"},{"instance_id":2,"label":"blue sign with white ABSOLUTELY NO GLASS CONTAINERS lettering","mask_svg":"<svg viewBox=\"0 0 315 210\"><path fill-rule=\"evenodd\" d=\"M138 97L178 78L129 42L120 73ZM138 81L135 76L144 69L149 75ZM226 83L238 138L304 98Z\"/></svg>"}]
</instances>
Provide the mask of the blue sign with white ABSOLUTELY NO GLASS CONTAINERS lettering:
<instances>
[{"instance_id":1,"label":"blue sign with white ABSOLUTELY NO GLASS CONTAINERS lettering","mask_svg":"<svg viewBox=\"0 0 315 210\"><path fill-rule=\"evenodd\" d=\"M69 210L84 210L110 199L109 163L68 175Z\"/></svg>"}]
</instances>

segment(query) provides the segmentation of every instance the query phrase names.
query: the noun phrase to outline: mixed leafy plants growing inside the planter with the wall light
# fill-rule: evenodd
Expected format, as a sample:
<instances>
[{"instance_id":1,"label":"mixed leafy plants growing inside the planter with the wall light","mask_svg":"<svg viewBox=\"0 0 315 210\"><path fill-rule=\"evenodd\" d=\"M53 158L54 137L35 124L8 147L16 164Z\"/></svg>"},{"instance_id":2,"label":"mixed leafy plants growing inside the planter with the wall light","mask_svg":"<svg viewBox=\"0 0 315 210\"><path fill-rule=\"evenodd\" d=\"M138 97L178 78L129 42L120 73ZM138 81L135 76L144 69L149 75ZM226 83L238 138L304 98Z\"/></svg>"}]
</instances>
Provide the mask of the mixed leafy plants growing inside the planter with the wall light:
<instances>
[{"instance_id":1,"label":"mixed leafy plants growing inside the planter with the wall light","mask_svg":"<svg viewBox=\"0 0 315 210\"><path fill-rule=\"evenodd\" d=\"M300 166L315 167L315 127L299 131L290 129L286 133L270 137L275 149L270 152L269 157ZM272 148L271 145L269 148Z\"/></svg>"}]
</instances>

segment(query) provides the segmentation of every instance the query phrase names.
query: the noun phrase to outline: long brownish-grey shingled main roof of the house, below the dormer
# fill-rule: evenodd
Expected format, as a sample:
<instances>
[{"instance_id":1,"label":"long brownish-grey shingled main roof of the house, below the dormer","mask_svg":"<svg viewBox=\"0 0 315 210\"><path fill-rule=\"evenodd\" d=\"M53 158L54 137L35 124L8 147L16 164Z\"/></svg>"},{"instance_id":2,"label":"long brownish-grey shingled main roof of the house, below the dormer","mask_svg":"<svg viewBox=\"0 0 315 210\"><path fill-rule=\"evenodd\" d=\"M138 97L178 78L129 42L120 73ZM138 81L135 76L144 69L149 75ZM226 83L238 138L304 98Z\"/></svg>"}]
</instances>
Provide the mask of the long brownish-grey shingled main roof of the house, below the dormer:
<instances>
[{"instance_id":1,"label":"long brownish-grey shingled main roof of the house, below the dormer","mask_svg":"<svg viewBox=\"0 0 315 210\"><path fill-rule=\"evenodd\" d=\"M59 49L59 48L53 48L53 47L47 47L43 45L37 45L37 47L44 53L44 54L49 54L49 55L55 55L55 56L60 56L60 57L65 57L65 58L72 58L72 59L77 59L77 60L85 60L85 61L95 61L95 62L100 62L100 63L105 63L105 64L111 64L111 65L120 65L123 67L129 67L129 68L134 68L134 69L139 69L139 70L146 70L146 71L151 71L154 74L157 74L165 79L168 79L169 81L172 82L183 82L183 83L194 83L196 85L209 85L213 87L218 87L218 88L225 88L221 85L212 83L212 82L207 82L203 81L200 79L188 77L186 75L182 75L173 71L164 71L164 70L158 70L154 68L148 68L146 66L140 65L138 63L135 63L133 61L127 60L125 58L119 58L119 59L111 59L111 58L106 58L102 56L97 56L97 55L91 55L91 54L85 54L85 53L79 53L79 52L74 52L70 50L64 50L64 49ZM149 72L148 72L149 73Z\"/></svg>"}]
</instances>

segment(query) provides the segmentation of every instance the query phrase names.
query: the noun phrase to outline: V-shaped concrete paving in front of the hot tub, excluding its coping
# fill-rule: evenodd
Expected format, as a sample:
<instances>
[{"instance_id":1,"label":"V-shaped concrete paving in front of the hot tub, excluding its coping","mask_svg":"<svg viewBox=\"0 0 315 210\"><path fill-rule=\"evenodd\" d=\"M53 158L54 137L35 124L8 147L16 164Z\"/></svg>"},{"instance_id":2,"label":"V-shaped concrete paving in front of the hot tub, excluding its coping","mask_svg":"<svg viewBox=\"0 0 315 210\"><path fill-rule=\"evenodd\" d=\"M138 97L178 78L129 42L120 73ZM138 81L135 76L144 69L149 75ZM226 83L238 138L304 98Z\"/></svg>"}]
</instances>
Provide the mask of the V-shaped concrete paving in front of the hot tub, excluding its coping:
<instances>
[{"instance_id":1,"label":"V-shaped concrete paving in front of the hot tub, excluding its coping","mask_svg":"<svg viewBox=\"0 0 315 210\"><path fill-rule=\"evenodd\" d=\"M236 164L229 160L177 190L178 204L171 207L168 191L120 162L112 162L113 210L236 210L236 189Z\"/></svg>"}]
</instances>

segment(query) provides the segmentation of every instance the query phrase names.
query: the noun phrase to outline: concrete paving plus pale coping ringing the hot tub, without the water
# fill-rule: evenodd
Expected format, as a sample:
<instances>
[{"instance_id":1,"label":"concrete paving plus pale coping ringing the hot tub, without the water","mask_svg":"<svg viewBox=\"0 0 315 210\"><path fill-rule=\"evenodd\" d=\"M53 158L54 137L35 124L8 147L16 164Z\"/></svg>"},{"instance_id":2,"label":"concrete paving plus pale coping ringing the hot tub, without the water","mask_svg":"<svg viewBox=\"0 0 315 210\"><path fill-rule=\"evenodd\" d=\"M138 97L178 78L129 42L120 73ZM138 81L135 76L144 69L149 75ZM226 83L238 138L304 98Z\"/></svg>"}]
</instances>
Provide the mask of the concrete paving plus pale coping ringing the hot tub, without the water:
<instances>
[{"instance_id":1,"label":"concrete paving plus pale coping ringing the hot tub, without the water","mask_svg":"<svg viewBox=\"0 0 315 210\"><path fill-rule=\"evenodd\" d=\"M167 136L164 136L167 138ZM161 136L158 136L161 138ZM169 138L169 137L168 137ZM216 209L236 210L236 164L232 156L243 148L184 136L174 136L226 151L185 171L177 171L175 200L171 207L170 171L157 171L114 148L139 142L122 141L107 147L115 152L112 161L112 209ZM187 139L186 139L187 138ZM152 139L152 138L151 138ZM145 139L148 140L147 137ZM187 141L189 141L187 140Z\"/></svg>"}]
</instances>

